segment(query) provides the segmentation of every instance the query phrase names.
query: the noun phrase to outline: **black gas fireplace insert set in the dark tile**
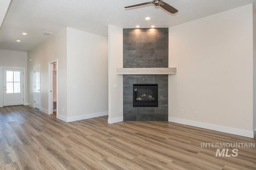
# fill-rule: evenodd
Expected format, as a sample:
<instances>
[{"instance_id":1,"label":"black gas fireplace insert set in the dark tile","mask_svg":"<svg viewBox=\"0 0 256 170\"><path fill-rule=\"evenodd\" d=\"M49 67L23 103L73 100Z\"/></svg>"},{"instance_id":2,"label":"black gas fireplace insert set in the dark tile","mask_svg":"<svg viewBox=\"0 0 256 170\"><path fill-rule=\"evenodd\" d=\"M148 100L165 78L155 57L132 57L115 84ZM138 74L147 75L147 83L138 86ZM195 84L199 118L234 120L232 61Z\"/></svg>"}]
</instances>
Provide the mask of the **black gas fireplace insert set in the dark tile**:
<instances>
[{"instance_id":1,"label":"black gas fireplace insert set in the dark tile","mask_svg":"<svg viewBox=\"0 0 256 170\"><path fill-rule=\"evenodd\" d=\"M158 84L133 84L133 107L158 107Z\"/></svg>"}]
</instances>

